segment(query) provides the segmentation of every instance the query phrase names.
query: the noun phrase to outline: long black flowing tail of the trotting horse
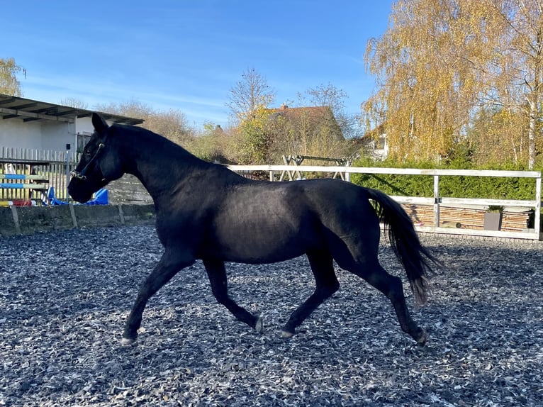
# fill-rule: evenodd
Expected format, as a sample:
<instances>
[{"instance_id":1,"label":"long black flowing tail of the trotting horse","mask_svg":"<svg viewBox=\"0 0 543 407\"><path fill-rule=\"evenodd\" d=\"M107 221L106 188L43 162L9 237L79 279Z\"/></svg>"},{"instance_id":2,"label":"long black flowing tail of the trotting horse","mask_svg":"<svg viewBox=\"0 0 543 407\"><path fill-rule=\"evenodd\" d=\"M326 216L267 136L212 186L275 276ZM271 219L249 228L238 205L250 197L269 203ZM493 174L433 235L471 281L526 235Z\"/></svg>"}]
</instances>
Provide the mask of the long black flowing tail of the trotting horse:
<instances>
[{"instance_id":1,"label":"long black flowing tail of the trotting horse","mask_svg":"<svg viewBox=\"0 0 543 407\"><path fill-rule=\"evenodd\" d=\"M442 263L420 244L413 221L400 204L381 191L365 189L369 199L377 203L377 216L384 223L391 247L407 273L415 302L426 303L429 291L427 277L432 272L430 264Z\"/></svg>"}]
</instances>

